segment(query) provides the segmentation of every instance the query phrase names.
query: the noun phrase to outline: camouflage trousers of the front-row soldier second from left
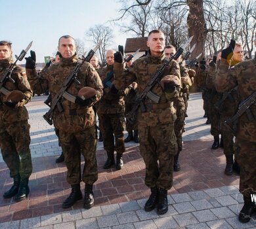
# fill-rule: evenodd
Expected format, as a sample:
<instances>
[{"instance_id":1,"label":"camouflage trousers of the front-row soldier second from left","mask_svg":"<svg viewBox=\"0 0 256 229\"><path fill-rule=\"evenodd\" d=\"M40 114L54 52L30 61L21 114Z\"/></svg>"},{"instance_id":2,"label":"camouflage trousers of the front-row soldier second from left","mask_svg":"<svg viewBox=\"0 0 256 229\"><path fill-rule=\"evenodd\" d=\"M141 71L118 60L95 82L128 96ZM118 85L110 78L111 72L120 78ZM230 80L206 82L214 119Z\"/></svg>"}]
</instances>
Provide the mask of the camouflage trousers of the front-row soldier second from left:
<instances>
[{"instance_id":1,"label":"camouflage trousers of the front-row soldier second from left","mask_svg":"<svg viewBox=\"0 0 256 229\"><path fill-rule=\"evenodd\" d=\"M75 185L83 181L84 183L93 185L98 179L95 126L91 126L81 132L75 133L59 130L59 135L60 145L68 169L68 183L70 185ZM85 159L82 175L81 154Z\"/></svg>"}]
</instances>

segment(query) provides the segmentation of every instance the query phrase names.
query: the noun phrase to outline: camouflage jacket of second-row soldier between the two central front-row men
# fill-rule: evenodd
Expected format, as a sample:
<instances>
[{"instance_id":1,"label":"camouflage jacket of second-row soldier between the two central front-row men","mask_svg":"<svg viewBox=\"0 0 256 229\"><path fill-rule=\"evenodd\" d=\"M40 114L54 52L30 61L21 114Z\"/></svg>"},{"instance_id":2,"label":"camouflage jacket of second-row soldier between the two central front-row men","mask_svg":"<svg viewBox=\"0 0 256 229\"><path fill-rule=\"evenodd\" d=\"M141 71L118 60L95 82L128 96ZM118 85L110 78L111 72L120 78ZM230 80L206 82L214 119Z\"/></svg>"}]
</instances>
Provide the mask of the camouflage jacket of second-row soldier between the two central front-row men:
<instances>
[{"instance_id":1,"label":"camouflage jacket of second-row soldier between the two central front-row men","mask_svg":"<svg viewBox=\"0 0 256 229\"><path fill-rule=\"evenodd\" d=\"M113 72L113 77L110 81L115 79L114 65L106 65L98 70L98 75L103 81L108 74ZM104 88L104 94L100 101L96 104L97 113L99 114L118 114L125 112L125 101L123 99L125 92L121 90L117 94L110 92L110 88Z\"/></svg>"}]
</instances>

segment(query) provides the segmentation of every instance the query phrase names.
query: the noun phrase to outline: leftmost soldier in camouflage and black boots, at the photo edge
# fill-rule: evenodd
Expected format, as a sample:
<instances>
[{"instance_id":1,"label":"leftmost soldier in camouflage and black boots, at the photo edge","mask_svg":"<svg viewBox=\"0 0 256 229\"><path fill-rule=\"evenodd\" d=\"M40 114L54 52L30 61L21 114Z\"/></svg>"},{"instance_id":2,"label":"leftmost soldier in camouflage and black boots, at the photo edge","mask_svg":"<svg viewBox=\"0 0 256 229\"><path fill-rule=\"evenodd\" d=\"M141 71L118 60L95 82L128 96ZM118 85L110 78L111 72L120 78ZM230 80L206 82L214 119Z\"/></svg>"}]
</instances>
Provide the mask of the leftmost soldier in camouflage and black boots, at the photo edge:
<instances>
[{"instance_id":1,"label":"leftmost soldier in camouflage and black boots, at the photo edge","mask_svg":"<svg viewBox=\"0 0 256 229\"><path fill-rule=\"evenodd\" d=\"M0 71L5 71L12 62L11 43L0 41ZM30 124L24 105L31 100L32 90L22 67L15 66L11 77L14 83L5 82L0 93L0 148L14 183L3 197L12 198L16 195L15 200L19 202L30 193ZM9 90L7 94L2 92L4 88Z\"/></svg>"}]
</instances>

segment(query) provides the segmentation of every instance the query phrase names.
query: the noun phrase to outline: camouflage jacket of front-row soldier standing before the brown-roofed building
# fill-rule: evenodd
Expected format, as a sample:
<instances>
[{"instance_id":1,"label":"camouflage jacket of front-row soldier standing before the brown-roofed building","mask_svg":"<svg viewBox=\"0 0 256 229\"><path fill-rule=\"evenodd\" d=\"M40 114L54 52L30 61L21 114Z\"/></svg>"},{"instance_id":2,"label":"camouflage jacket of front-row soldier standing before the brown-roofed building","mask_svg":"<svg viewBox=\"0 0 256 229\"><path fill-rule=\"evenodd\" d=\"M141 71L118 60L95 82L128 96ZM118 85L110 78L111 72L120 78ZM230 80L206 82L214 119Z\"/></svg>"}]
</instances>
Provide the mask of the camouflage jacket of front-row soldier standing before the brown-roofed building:
<instances>
[{"instance_id":1,"label":"camouflage jacket of front-row soldier standing before the brown-roofed building","mask_svg":"<svg viewBox=\"0 0 256 229\"><path fill-rule=\"evenodd\" d=\"M133 65L125 71L123 71L123 64L115 62L114 65L117 71L114 84L116 88L124 89L135 81L138 84L137 93L140 94L144 88L146 88L148 82L152 79L152 76L163 65L164 61L164 54L161 54L159 58L156 58L151 56L150 52L148 52L146 56L135 60ZM179 63L177 63L175 60L172 60L163 73L163 76L165 75L175 75L181 79ZM144 101L146 112L142 113L140 108L138 111L138 122L140 126L157 126L159 124L174 122L177 116L173 106L169 105L162 109L150 108L168 105L169 103L160 84L156 84L152 88L152 92L157 96L160 96L160 102L157 104L154 103L154 101L151 99L146 98L146 101ZM176 97L173 97L173 100L175 98Z\"/></svg>"}]
</instances>

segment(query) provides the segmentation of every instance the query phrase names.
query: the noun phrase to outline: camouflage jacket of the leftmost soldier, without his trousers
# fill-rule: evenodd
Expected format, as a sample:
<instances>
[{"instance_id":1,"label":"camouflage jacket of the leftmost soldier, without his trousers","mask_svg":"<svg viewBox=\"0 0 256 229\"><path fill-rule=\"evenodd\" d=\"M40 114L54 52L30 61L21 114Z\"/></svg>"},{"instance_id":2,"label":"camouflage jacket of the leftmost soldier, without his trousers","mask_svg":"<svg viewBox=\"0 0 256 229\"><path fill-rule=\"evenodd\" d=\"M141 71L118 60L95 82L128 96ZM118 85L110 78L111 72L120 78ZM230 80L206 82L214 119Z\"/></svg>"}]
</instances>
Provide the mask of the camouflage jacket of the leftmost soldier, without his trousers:
<instances>
[{"instance_id":1,"label":"camouflage jacket of the leftmost soldier, without his trousers","mask_svg":"<svg viewBox=\"0 0 256 229\"><path fill-rule=\"evenodd\" d=\"M0 74L9 67L10 63L12 63L12 58L0 60ZM32 90L30 89L25 69L20 66L16 66L12 71L11 77L15 82L12 83L10 80L7 80L3 86L9 91L20 90L23 92L25 99L19 102L15 108L11 108L3 103L6 96L5 94L0 93L1 124L28 120L28 111L26 107L24 107L24 104L31 100Z\"/></svg>"}]
</instances>

